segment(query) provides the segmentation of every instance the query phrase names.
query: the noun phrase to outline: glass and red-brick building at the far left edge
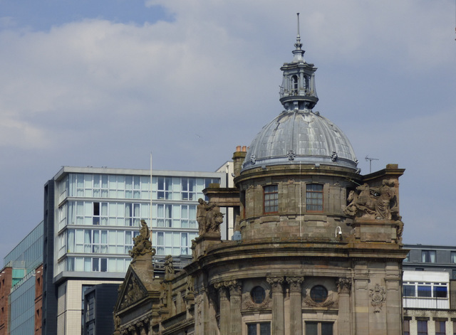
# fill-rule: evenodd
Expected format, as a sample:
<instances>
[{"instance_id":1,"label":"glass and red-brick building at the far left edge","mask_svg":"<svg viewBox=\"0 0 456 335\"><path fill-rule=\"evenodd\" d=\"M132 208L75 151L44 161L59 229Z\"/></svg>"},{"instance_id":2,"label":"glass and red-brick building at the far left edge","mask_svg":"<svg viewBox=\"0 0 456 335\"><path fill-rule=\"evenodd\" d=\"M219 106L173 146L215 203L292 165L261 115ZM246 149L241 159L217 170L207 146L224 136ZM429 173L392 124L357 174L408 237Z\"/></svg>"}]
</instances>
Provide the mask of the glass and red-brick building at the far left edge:
<instances>
[{"instance_id":1,"label":"glass and red-brick building at the far left edge","mask_svg":"<svg viewBox=\"0 0 456 335\"><path fill-rule=\"evenodd\" d=\"M43 222L4 257L0 274L0 334L36 334L41 324L38 305L43 262ZM39 285L39 282L38 282ZM38 313L36 308L38 307Z\"/></svg>"}]
</instances>

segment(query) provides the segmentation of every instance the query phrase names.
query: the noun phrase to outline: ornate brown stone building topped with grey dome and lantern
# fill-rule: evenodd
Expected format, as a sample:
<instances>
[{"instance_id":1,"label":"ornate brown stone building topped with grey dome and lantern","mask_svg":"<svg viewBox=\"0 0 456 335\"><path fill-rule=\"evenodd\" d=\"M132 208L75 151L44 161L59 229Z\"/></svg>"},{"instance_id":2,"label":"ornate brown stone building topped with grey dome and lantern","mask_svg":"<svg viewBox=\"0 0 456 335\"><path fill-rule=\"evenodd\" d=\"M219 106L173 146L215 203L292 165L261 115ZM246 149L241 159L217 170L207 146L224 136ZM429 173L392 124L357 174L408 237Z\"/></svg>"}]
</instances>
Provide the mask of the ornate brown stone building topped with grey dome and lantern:
<instances>
[{"instance_id":1,"label":"ornate brown stone building topped with grey dome and lantern","mask_svg":"<svg viewBox=\"0 0 456 335\"><path fill-rule=\"evenodd\" d=\"M155 277L155 250L136 241L115 334L402 334L404 170L360 174L345 134L313 111L316 67L299 34L293 54L284 110L234 153L234 187L204 190L190 264L175 273L169 257ZM232 240L219 207L236 214Z\"/></svg>"}]
</instances>

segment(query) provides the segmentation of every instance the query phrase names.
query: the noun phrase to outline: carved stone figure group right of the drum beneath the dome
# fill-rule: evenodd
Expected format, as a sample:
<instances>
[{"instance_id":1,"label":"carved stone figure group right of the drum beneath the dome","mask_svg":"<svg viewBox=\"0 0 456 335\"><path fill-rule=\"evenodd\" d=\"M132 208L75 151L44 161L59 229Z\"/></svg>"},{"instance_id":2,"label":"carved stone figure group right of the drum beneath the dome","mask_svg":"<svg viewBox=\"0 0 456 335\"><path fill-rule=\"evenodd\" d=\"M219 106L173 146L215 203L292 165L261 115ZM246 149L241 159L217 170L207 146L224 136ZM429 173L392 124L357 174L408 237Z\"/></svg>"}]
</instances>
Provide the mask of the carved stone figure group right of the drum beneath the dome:
<instances>
[{"instance_id":1,"label":"carved stone figure group right of the drum beneath the dome","mask_svg":"<svg viewBox=\"0 0 456 335\"><path fill-rule=\"evenodd\" d=\"M382 185L363 184L348 193L350 203L343 210L347 216L362 216L377 220L392 220L391 208L395 205L394 182L383 180ZM395 218L397 219L397 218Z\"/></svg>"}]
</instances>

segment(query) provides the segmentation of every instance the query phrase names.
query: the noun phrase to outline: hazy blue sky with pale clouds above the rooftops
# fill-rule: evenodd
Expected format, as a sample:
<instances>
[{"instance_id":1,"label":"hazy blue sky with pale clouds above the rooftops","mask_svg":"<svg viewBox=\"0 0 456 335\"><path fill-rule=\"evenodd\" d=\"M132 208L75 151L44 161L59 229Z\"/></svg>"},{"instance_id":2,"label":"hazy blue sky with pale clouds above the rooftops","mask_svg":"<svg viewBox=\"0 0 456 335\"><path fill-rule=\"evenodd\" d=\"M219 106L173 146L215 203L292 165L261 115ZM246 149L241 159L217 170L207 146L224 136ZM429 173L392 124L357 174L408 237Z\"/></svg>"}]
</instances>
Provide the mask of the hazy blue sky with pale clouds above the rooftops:
<instances>
[{"instance_id":1,"label":"hazy blue sky with pale clouds above the rooftops","mask_svg":"<svg viewBox=\"0 0 456 335\"><path fill-rule=\"evenodd\" d=\"M0 260L61 166L215 171L283 110L300 13L314 111L398 164L404 243L456 245L455 0L0 0ZM1 261L0 261L1 262Z\"/></svg>"}]
</instances>

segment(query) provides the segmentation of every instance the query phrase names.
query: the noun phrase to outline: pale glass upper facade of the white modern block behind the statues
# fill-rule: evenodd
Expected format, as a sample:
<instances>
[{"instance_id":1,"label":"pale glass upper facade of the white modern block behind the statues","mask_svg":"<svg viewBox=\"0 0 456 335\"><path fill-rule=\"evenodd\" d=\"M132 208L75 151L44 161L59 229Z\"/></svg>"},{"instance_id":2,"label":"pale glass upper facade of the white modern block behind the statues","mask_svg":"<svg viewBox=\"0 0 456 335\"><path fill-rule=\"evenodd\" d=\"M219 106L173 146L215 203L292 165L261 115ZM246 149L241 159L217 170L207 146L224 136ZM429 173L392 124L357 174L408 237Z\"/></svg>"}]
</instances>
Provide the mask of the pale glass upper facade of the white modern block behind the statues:
<instances>
[{"instance_id":1,"label":"pale glass upper facade of the white modern block behind the statues","mask_svg":"<svg viewBox=\"0 0 456 335\"><path fill-rule=\"evenodd\" d=\"M202 190L219 172L63 167L54 177L56 264L69 272L125 273L140 220L152 230L157 257L191 255Z\"/></svg>"}]
</instances>

